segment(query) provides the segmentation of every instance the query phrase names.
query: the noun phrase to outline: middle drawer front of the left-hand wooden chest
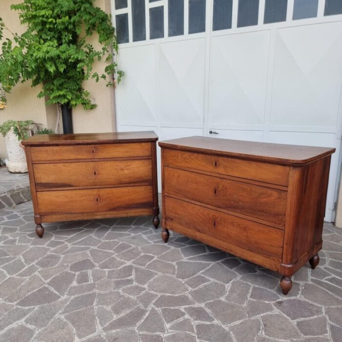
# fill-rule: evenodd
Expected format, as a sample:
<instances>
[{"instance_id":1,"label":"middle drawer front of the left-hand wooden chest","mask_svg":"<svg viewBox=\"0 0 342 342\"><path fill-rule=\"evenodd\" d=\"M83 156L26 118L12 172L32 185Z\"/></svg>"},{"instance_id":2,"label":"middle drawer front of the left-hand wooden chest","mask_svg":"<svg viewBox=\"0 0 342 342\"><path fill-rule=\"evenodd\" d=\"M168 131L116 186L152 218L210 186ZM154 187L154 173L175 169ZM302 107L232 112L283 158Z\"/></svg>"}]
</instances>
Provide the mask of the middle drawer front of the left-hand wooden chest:
<instances>
[{"instance_id":1,"label":"middle drawer front of the left-hand wooden chest","mask_svg":"<svg viewBox=\"0 0 342 342\"><path fill-rule=\"evenodd\" d=\"M73 187L151 185L150 159L33 165L38 191Z\"/></svg>"}]
</instances>

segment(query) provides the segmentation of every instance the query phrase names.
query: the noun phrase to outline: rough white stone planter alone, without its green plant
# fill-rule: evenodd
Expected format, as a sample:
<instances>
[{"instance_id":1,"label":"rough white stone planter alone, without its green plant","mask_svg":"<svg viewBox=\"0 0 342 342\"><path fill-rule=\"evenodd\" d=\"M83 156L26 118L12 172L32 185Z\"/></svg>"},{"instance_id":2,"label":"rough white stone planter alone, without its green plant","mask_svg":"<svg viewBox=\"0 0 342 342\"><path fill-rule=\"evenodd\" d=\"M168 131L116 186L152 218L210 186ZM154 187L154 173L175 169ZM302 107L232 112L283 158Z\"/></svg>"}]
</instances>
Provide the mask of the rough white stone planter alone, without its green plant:
<instances>
[{"instance_id":1,"label":"rough white stone planter alone, without its green plant","mask_svg":"<svg viewBox=\"0 0 342 342\"><path fill-rule=\"evenodd\" d=\"M25 150L21 147L21 141L14 134L13 128L5 136L8 159L5 160L9 172L27 172Z\"/></svg>"}]
</instances>

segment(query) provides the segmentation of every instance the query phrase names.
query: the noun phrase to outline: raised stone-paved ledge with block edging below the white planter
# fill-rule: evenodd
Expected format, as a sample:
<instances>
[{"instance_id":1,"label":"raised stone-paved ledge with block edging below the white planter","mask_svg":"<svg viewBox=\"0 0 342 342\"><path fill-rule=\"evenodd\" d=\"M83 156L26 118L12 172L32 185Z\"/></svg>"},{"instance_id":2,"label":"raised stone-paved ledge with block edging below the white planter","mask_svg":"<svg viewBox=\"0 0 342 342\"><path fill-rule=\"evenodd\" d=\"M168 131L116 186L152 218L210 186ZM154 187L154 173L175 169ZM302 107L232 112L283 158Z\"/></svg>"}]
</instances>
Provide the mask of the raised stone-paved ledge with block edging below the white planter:
<instances>
[{"instance_id":1,"label":"raised stone-paved ledge with block edging below the white planter","mask_svg":"<svg viewBox=\"0 0 342 342\"><path fill-rule=\"evenodd\" d=\"M27 173L9 173L0 168L0 210L31 200Z\"/></svg>"}]
</instances>

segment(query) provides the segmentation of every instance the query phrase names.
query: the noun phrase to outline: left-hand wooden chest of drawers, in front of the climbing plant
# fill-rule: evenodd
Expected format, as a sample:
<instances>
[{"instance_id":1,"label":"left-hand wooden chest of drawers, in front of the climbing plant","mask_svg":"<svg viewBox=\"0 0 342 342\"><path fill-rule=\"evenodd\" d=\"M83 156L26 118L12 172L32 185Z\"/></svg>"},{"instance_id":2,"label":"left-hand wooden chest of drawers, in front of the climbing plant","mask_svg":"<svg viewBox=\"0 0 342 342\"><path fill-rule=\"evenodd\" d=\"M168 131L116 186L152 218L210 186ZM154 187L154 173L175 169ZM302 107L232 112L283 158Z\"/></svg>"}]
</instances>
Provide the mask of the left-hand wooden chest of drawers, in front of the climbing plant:
<instances>
[{"instance_id":1,"label":"left-hand wooden chest of drawers, in front of the climbing plant","mask_svg":"<svg viewBox=\"0 0 342 342\"><path fill-rule=\"evenodd\" d=\"M157 228L157 140L153 131L24 140L37 235L43 222L146 214Z\"/></svg>"}]
</instances>

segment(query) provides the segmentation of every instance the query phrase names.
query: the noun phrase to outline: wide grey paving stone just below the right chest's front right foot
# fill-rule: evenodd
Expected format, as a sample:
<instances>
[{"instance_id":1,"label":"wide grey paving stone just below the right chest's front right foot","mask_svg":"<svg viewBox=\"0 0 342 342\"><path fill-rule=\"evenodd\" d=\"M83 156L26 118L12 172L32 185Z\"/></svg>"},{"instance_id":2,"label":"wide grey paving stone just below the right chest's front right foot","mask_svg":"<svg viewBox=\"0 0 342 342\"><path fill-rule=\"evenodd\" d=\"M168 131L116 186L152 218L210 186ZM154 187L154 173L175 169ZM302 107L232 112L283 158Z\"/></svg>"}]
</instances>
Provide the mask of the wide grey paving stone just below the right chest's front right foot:
<instances>
[{"instance_id":1,"label":"wide grey paving stone just below the right chest's front right foot","mask_svg":"<svg viewBox=\"0 0 342 342\"><path fill-rule=\"evenodd\" d=\"M291 320L319 316L322 313L320 306L301 299L279 300L275 306Z\"/></svg>"}]
</instances>

